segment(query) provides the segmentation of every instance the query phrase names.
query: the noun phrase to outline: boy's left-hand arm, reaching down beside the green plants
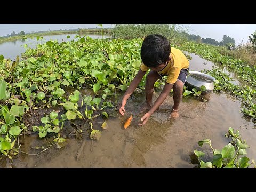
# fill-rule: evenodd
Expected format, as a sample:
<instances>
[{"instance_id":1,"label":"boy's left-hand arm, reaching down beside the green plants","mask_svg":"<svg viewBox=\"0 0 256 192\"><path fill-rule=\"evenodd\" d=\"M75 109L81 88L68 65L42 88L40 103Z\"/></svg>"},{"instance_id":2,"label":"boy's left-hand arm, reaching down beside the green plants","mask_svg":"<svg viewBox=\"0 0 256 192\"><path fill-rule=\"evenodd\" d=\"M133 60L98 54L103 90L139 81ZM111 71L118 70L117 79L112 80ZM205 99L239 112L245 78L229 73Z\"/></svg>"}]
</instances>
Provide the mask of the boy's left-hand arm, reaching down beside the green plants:
<instances>
[{"instance_id":1,"label":"boy's left-hand arm, reaching down beside the green plants","mask_svg":"<svg viewBox=\"0 0 256 192\"><path fill-rule=\"evenodd\" d=\"M129 99L130 95L133 93L133 91L139 85L139 83L141 82L141 79L143 78L145 73L146 73L145 71L142 71L141 69L139 69L137 75L134 77L134 79L132 79L128 89L124 93L124 97L122 99L121 107L119 108L119 112L121 113L121 115L124 115L124 112L125 112L124 106L126 104L127 99Z\"/></svg>"}]
</instances>

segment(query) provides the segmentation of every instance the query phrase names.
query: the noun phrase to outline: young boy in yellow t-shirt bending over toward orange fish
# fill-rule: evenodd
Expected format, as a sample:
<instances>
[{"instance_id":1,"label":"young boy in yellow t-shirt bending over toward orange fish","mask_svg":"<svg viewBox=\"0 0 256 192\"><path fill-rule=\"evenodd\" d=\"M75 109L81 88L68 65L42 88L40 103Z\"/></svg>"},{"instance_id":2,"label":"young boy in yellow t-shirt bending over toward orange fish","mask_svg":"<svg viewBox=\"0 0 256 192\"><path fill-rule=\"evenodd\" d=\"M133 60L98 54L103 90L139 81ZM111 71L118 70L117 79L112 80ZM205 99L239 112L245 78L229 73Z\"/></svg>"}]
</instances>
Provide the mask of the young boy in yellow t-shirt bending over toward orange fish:
<instances>
[{"instance_id":1,"label":"young boy in yellow t-shirt bending over toward orange fish","mask_svg":"<svg viewBox=\"0 0 256 192\"><path fill-rule=\"evenodd\" d=\"M155 110L164 102L173 88L173 107L170 117L177 118L180 101L183 94L183 86L188 75L189 61L179 49L170 46L170 42L162 35L148 35L141 46L142 64L137 75L132 80L122 99L119 112L124 115L127 99L139 85L148 69L151 69L146 77L146 105L148 112L141 118L139 125L144 125ZM152 106L154 83L163 76L168 76L161 94Z\"/></svg>"}]
</instances>

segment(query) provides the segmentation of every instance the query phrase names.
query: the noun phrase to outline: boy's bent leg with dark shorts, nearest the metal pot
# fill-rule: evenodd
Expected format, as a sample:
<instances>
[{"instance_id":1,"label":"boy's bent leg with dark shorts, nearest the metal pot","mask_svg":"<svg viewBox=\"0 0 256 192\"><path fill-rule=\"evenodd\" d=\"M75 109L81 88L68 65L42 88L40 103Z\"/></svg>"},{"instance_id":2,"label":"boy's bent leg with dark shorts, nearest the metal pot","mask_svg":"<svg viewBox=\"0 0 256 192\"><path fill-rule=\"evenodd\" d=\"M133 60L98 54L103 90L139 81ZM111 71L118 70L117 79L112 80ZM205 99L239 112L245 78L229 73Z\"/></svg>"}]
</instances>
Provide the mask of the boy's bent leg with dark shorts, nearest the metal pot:
<instances>
[{"instance_id":1,"label":"boy's bent leg with dark shorts, nearest the metal pot","mask_svg":"<svg viewBox=\"0 0 256 192\"><path fill-rule=\"evenodd\" d=\"M178 110L183 95L183 87L188 75L188 69L181 69L177 81L173 85L173 107L171 117L177 118L179 116Z\"/></svg>"}]
</instances>

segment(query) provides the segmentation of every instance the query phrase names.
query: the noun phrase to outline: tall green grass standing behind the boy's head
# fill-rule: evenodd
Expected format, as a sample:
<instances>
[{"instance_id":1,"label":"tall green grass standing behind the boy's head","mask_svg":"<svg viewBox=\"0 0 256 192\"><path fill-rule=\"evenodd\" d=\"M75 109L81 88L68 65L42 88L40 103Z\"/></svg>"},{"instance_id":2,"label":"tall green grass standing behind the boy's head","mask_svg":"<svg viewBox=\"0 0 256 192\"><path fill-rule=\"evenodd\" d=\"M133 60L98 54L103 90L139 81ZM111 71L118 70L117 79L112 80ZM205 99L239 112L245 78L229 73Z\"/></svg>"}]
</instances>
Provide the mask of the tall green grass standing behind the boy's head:
<instances>
[{"instance_id":1,"label":"tall green grass standing behind the boy's head","mask_svg":"<svg viewBox=\"0 0 256 192\"><path fill-rule=\"evenodd\" d=\"M115 24L111 37L133 39L145 38L150 34L161 34L169 39L171 46L174 46L187 40L182 31L185 31L185 28L178 24Z\"/></svg>"}]
</instances>

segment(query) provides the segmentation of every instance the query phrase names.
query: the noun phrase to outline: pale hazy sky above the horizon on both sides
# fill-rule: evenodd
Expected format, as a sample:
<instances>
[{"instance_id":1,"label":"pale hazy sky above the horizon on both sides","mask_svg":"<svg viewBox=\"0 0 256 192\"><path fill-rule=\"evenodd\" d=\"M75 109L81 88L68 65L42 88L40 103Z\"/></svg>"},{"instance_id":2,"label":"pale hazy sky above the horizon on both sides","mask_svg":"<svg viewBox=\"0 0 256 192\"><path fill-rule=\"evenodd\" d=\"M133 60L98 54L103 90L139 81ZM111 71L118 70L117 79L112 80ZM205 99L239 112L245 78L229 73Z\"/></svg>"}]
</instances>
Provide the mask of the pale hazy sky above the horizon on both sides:
<instances>
[{"instance_id":1,"label":"pale hazy sky above the horizon on both sides","mask_svg":"<svg viewBox=\"0 0 256 192\"><path fill-rule=\"evenodd\" d=\"M256 31L256 24L177 24L188 34L199 35L202 38L213 38L222 41L224 35L234 38L236 45L249 41ZM12 31L37 32L59 29L100 28L97 24L0 24L0 36L9 35ZM113 27L112 24L103 24L104 28Z\"/></svg>"}]
</instances>

